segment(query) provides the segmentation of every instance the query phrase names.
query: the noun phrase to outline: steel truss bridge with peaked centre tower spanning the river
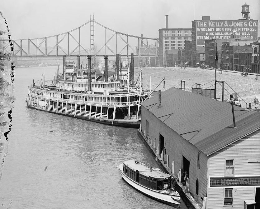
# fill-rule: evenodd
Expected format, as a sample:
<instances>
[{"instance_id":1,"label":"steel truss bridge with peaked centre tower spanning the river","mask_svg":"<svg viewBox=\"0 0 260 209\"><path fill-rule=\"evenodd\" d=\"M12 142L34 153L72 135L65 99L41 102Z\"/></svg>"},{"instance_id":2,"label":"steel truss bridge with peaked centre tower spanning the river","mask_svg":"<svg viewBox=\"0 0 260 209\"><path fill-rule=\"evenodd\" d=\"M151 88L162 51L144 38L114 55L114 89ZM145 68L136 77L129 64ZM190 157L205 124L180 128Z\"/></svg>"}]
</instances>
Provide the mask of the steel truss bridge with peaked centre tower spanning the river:
<instances>
[{"instance_id":1,"label":"steel truss bridge with peaked centre tower spanning the river","mask_svg":"<svg viewBox=\"0 0 260 209\"><path fill-rule=\"evenodd\" d=\"M58 35L0 40L0 50L3 54L11 54L21 60L54 60L89 55L116 57L116 54L128 57L131 53L134 57L155 58L158 57L159 39L117 32L90 18L82 26Z\"/></svg>"}]
</instances>

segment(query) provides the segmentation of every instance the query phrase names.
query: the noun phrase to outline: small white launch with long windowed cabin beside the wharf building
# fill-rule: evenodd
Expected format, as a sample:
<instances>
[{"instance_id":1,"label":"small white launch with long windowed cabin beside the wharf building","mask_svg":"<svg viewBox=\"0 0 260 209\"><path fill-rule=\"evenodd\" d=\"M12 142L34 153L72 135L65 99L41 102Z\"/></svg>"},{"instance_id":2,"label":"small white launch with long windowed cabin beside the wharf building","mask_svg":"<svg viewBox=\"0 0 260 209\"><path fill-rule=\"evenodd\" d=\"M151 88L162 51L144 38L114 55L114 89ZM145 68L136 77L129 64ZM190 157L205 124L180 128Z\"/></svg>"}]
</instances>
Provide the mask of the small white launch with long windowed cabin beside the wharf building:
<instances>
[{"instance_id":1,"label":"small white launch with long windowed cabin beside the wharf building","mask_svg":"<svg viewBox=\"0 0 260 209\"><path fill-rule=\"evenodd\" d=\"M139 192L175 208L180 207L180 195L172 188L172 176L169 174L135 160L121 163L119 170L123 179Z\"/></svg>"}]
</instances>

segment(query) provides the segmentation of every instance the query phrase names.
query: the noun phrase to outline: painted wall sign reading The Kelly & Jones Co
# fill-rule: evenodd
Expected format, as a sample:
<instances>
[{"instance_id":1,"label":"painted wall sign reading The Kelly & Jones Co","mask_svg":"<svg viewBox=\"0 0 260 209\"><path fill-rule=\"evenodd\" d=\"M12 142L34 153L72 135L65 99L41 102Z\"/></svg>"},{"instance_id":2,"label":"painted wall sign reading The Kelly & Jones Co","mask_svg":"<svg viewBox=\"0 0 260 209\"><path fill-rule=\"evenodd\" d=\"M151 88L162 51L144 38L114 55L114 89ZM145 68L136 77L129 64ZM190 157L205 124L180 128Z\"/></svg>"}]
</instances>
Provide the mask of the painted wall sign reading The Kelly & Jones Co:
<instances>
[{"instance_id":1,"label":"painted wall sign reading The Kelly & Jones Co","mask_svg":"<svg viewBox=\"0 0 260 209\"><path fill-rule=\"evenodd\" d=\"M209 20L196 21L197 46L204 46L206 39L231 38L231 35L239 35L256 39L257 20Z\"/></svg>"}]
</instances>

